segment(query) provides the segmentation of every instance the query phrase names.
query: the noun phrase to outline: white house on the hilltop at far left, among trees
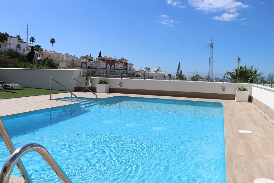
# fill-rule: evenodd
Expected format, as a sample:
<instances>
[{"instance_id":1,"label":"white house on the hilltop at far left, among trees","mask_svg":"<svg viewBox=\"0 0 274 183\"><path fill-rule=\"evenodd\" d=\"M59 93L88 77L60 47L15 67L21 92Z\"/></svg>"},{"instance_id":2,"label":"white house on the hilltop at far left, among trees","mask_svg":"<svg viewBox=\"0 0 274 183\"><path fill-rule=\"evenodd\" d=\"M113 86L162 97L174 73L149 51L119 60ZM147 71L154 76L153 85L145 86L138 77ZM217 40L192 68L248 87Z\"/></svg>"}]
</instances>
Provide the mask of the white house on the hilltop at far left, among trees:
<instances>
[{"instance_id":1,"label":"white house on the hilltop at far left, among trees","mask_svg":"<svg viewBox=\"0 0 274 183\"><path fill-rule=\"evenodd\" d=\"M5 44L7 48L12 48L21 54L26 55L28 52L30 52L28 43L24 42L23 40L18 40L17 37L9 36L8 41L5 41Z\"/></svg>"}]
</instances>

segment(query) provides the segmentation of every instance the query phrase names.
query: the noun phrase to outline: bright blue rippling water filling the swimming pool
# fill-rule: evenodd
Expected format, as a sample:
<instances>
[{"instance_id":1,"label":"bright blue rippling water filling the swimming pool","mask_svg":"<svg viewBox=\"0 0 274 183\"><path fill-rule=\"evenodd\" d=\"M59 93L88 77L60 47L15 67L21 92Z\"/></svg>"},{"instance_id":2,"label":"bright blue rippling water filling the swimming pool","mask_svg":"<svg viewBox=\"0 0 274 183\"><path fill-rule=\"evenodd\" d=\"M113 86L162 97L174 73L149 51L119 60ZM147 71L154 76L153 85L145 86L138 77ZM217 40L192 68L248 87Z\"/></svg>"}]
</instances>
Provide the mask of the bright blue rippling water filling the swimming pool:
<instances>
[{"instance_id":1,"label":"bright blue rippling water filling the swimming pool","mask_svg":"<svg viewBox=\"0 0 274 183\"><path fill-rule=\"evenodd\" d=\"M43 145L72 182L226 183L221 103L113 97L2 121L16 148ZM0 155L2 169L2 138ZM38 153L22 161L33 182L61 182Z\"/></svg>"}]
</instances>

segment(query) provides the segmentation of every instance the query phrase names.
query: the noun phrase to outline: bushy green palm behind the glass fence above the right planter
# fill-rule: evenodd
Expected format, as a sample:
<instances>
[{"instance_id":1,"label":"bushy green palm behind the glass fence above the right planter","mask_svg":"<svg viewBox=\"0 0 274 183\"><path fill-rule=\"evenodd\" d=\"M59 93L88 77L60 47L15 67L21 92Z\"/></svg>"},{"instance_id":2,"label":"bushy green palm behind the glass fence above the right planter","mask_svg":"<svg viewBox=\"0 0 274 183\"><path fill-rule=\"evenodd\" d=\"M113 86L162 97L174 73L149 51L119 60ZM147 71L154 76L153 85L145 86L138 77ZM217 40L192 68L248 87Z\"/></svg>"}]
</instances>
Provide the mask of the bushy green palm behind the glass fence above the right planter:
<instances>
[{"instance_id":1,"label":"bushy green palm behind the glass fence above the right planter","mask_svg":"<svg viewBox=\"0 0 274 183\"><path fill-rule=\"evenodd\" d=\"M233 72L226 71L225 77L230 80L230 83L252 83L253 79L261 76L261 72L258 73L258 67L238 66Z\"/></svg>"}]
</instances>

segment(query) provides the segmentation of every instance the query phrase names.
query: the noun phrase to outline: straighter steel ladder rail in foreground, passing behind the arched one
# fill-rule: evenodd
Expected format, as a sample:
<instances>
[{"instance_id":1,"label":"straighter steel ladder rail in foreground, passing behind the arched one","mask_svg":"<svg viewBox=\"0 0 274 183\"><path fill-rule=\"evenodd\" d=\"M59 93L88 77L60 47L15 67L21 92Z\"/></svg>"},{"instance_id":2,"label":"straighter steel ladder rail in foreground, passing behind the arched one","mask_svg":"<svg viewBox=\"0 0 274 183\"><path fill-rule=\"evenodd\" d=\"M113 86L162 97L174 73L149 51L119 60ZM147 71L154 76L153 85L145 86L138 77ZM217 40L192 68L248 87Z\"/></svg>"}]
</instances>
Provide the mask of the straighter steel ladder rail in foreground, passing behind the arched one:
<instances>
[{"instance_id":1,"label":"straighter steel ladder rail in foreground, passing behind the arched one","mask_svg":"<svg viewBox=\"0 0 274 183\"><path fill-rule=\"evenodd\" d=\"M9 138L9 134L2 122L2 120L0 119L0 134L7 146L7 148L9 149L9 152L12 154L16 149L11 141L11 139ZM24 167L23 163L21 160L19 160L17 163L16 163L20 173L22 174L24 180L26 181L26 183L32 183L31 179L30 179L30 176L29 174L27 173L26 171L26 168ZM1 182L1 181L0 181Z\"/></svg>"}]
</instances>

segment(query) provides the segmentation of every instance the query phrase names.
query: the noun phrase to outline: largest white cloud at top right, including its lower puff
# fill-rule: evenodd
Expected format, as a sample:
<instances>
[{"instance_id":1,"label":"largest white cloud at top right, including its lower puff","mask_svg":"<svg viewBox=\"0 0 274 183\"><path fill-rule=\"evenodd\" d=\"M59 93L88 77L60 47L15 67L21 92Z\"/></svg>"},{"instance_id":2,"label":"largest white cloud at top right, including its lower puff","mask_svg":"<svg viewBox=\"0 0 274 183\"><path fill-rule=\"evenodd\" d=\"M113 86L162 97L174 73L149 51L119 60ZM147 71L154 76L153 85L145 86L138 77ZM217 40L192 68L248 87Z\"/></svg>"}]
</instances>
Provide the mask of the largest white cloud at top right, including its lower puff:
<instances>
[{"instance_id":1,"label":"largest white cloud at top right, including its lower puff","mask_svg":"<svg viewBox=\"0 0 274 183\"><path fill-rule=\"evenodd\" d=\"M212 17L214 20L232 21L238 20L238 10L251 7L235 0L188 0L188 4L204 13L222 13Z\"/></svg>"}]
</instances>

